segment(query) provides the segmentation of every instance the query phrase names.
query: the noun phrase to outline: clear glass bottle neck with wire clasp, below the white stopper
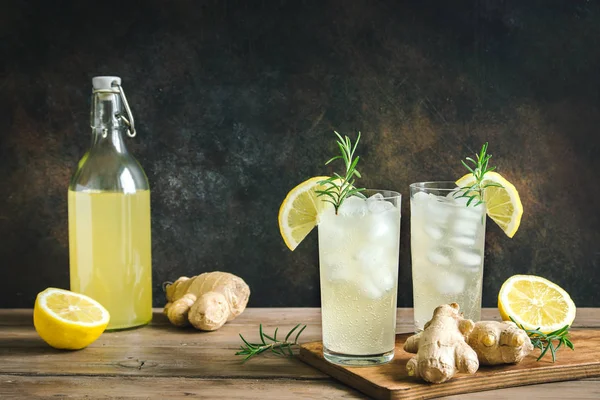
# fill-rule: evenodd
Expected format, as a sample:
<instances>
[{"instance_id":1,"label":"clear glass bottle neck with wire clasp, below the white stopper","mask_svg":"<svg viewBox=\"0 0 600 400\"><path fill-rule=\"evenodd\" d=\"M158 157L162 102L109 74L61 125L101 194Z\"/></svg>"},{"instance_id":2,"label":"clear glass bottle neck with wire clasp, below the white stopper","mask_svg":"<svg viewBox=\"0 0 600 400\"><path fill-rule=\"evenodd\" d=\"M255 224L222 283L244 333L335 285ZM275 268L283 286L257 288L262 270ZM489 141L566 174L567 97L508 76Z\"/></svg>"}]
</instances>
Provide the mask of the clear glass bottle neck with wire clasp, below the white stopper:
<instances>
[{"instance_id":1,"label":"clear glass bottle neck with wire clasp, below the white stopper","mask_svg":"<svg viewBox=\"0 0 600 400\"><path fill-rule=\"evenodd\" d=\"M126 153L123 133L127 126L119 118L124 108L117 92L94 92L92 94L92 147L110 146L119 153Z\"/></svg>"}]
</instances>

